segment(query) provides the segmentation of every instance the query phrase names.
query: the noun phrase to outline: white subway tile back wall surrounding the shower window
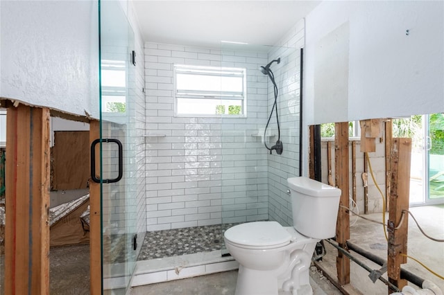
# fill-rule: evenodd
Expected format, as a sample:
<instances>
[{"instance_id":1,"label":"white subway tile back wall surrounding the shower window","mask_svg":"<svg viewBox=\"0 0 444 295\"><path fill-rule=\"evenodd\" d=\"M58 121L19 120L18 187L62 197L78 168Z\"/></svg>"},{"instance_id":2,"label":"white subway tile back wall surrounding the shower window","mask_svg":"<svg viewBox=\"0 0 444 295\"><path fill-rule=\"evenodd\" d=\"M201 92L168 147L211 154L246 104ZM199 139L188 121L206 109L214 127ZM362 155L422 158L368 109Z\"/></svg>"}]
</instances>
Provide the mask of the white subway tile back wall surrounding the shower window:
<instances>
[{"instance_id":1,"label":"white subway tile back wall surrounding the shower window","mask_svg":"<svg viewBox=\"0 0 444 295\"><path fill-rule=\"evenodd\" d=\"M147 230L268 219L267 53L145 43ZM246 118L174 116L173 64L247 69Z\"/></svg>"}]
</instances>

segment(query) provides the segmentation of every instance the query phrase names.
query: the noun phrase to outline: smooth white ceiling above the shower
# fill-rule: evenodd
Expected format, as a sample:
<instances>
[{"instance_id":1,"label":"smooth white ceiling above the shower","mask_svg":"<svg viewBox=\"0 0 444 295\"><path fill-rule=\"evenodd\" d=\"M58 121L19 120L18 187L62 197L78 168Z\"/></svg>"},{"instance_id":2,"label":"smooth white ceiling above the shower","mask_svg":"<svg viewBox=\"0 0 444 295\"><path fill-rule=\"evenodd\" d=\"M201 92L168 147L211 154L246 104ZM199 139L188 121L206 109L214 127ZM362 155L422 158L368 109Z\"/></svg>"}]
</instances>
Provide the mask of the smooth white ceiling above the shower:
<instances>
[{"instance_id":1,"label":"smooth white ceiling above the shower","mask_svg":"<svg viewBox=\"0 0 444 295\"><path fill-rule=\"evenodd\" d=\"M145 41L220 46L273 45L320 1L133 0Z\"/></svg>"}]
</instances>

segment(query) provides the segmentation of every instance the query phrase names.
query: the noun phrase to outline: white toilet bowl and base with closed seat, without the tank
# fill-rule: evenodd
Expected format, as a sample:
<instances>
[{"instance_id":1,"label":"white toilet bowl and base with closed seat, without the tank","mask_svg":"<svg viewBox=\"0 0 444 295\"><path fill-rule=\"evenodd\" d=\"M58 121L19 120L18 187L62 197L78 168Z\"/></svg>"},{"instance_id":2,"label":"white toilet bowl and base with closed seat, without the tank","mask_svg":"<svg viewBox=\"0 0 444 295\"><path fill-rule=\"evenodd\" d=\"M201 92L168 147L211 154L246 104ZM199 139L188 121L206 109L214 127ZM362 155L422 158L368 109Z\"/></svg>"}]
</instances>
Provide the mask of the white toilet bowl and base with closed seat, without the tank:
<instances>
[{"instance_id":1,"label":"white toilet bowl and base with closed seat, without the tank","mask_svg":"<svg viewBox=\"0 0 444 295\"><path fill-rule=\"evenodd\" d=\"M273 221L233 226L224 238L239 262L236 295L278 295L280 289L311 294L308 269L318 239ZM293 291L293 286L298 288Z\"/></svg>"}]
</instances>

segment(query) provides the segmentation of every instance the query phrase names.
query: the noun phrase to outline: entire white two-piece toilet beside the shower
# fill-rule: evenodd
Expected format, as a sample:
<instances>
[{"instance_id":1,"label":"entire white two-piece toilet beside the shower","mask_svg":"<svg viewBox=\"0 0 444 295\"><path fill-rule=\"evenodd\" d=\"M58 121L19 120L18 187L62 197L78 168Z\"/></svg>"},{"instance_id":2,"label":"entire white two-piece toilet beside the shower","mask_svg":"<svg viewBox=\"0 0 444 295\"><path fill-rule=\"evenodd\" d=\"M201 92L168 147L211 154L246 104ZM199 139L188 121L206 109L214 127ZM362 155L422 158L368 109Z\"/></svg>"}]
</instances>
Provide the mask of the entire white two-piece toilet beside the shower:
<instances>
[{"instance_id":1,"label":"entire white two-piece toilet beside the shower","mask_svg":"<svg viewBox=\"0 0 444 295\"><path fill-rule=\"evenodd\" d=\"M293 226L248 222L225 231L239 262L236 295L313 294L309 267L316 243L336 231L341 190L307 177L287 179Z\"/></svg>"}]
</instances>

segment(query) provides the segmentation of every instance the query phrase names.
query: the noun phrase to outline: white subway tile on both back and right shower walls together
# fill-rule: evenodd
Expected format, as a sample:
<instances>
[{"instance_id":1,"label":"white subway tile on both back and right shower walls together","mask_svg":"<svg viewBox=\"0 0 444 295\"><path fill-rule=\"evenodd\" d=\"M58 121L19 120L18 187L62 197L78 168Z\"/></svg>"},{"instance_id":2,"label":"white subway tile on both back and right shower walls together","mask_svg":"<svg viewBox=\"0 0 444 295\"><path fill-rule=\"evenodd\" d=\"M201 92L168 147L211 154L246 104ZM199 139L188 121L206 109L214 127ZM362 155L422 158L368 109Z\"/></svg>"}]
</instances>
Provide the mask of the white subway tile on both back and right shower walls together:
<instances>
[{"instance_id":1,"label":"white subway tile on both back and right shower walls together","mask_svg":"<svg viewBox=\"0 0 444 295\"><path fill-rule=\"evenodd\" d=\"M282 38L282 48L257 52L145 43L146 132L161 135L145 139L147 231L268 219L291 224L287 177L299 175L303 32L300 21ZM282 62L273 71L280 91L281 156L264 147L274 97L259 71L278 56ZM245 68L246 118L174 116L175 63ZM269 130L277 134L277 125Z\"/></svg>"}]
</instances>

